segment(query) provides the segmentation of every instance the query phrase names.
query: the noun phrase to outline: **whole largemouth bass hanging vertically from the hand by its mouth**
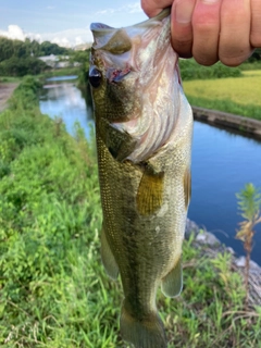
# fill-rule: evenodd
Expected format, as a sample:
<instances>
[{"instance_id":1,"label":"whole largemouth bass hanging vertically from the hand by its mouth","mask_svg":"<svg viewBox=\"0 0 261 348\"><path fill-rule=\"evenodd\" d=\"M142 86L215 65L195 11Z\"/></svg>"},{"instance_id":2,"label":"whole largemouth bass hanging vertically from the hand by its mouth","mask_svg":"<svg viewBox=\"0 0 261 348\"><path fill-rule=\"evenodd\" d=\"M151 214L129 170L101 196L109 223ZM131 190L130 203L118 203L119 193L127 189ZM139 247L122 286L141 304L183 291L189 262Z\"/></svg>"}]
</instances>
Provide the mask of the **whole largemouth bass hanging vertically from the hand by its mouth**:
<instances>
[{"instance_id":1,"label":"whole largemouth bass hanging vertically from the hand by its mouth","mask_svg":"<svg viewBox=\"0 0 261 348\"><path fill-rule=\"evenodd\" d=\"M122 278L123 338L136 348L165 348L156 295L160 284L169 297L183 286L192 136L170 10L126 28L97 23L91 30L101 258L108 274Z\"/></svg>"}]
</instances>

